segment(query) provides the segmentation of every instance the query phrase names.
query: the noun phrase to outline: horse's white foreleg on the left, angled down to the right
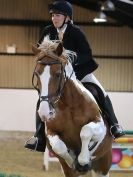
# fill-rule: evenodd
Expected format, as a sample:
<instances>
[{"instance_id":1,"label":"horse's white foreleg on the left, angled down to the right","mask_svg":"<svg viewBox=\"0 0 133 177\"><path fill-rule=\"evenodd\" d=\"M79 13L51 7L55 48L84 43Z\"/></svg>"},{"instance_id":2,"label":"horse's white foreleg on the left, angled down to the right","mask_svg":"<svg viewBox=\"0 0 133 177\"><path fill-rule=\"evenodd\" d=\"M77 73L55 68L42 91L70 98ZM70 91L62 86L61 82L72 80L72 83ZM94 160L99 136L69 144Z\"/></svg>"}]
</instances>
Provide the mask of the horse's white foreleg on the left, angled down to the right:
<instances>
[{"instance_id":1,"label":"horse's white foreleg on the left, angled down to the right","mask_svg":"<svg viewBox=\"0 0 133 177\"><path fill-rule=\"evenodd\" d=\"M68 166L72 168L74 159L69 155L68 149L65 143L59 138L58 135L47 135L49 143L52 147L52 150L60 157L62 157Z\"/></svg>"}]
</instances>

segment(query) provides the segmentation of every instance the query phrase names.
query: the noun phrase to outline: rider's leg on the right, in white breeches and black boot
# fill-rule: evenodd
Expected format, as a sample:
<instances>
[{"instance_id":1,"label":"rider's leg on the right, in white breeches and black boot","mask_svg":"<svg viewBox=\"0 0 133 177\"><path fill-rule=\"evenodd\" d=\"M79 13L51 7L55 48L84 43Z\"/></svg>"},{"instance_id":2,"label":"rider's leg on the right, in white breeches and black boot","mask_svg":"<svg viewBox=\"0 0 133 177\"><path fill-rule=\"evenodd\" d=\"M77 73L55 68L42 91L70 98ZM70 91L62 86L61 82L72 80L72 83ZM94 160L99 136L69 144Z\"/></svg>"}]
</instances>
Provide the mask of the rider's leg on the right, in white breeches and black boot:
<instances>
[{"instance_id":1,"label":"rider's leg on the right, in white breeches and black boot","mask_svg":"<svg viewBox=\"0 0 133 177\"><path fill-rule=\"evenodd\" d=\"M88 74L86 75L82 80L81 82L91 82L91 83L94 83L96 85L98 85L103 94L104 94L104 102L105 102L105 105L104 105L104 109L108 115L108 123L110 125L110 132L111 134L113 135L114 138L118 138L118 137L121 137L124 135L124 132L123 132L123 129L122 127L118 124L118 120L115 116L115 113L114 113L114 109L113 109L113 106L112 106L112 103L109 99L109 96L107 95L107 93L105 92L104 88L102 87L102 85L99 83L99 81L96 79L96 77L91 73L91 74Z\"/></svg>"}]
</instances>

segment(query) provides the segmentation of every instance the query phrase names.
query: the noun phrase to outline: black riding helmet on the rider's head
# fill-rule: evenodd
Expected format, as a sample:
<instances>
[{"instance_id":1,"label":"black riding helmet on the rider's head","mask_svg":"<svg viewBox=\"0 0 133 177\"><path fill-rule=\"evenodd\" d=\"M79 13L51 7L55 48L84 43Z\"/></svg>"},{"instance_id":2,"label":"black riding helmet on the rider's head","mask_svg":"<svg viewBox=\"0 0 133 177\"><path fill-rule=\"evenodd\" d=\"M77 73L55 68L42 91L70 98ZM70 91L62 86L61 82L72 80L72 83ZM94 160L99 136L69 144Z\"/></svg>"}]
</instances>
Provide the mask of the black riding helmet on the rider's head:
<instances>
[{"instance_id":1,"label":"black riding helmet on the rider's head","mask_svg":"<svg viewBox=\"0 0 133 177\"><path fill-rule=\"evenodd\" d=\"M48 6L49 13L59 13L65 16L69 16L72 20L72 5L67 1L54 1Z\"/></svg>"}]
</instances>

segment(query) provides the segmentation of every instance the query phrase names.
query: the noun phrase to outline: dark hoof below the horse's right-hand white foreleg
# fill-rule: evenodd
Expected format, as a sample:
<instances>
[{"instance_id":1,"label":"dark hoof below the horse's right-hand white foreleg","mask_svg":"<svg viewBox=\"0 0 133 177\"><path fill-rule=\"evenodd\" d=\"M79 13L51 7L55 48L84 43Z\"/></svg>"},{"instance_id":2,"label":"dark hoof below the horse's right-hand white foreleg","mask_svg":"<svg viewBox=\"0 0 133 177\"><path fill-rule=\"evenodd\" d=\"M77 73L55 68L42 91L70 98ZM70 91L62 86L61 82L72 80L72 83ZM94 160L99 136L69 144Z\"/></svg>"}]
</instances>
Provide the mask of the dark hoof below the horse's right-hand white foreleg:
<instances>
[{"instance_id":1,"label":"dark hoof below the horse's right-hand white foreleg","mask_svg":"<svg viewBox=\"0 0 133 177\"><path fill-rule=\"evenodd\" d=\"M75 170L77 170L78 172L87 172L87 171L91 170L91 167L92 167L91 162L89 162L89 164L82 166L78 163L77 160L75 161Z\"/></svg>"}]
</instances>

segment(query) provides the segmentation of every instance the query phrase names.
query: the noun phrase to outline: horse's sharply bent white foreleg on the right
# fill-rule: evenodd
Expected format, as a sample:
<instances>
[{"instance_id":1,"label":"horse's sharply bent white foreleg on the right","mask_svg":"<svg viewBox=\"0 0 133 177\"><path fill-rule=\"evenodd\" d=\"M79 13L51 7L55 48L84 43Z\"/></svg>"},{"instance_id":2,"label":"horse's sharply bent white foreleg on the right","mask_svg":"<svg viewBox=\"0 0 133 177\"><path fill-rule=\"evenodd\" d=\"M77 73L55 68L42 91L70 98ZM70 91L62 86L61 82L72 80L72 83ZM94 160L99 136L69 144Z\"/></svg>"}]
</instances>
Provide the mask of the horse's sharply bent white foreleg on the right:
<instances>
[{"instance_id":1,"label":"horse's sharply bent white foreleg on the right","mask_svg":"<svg viewBox=\"0 0 133 177\"><path fill-rule=\"evenodd\" d=\"M105 134L106 134L106 128L102 120L97 123L90 122L82 127L81 132L80 132L82 147L81 147L81 152L78 156L78 163L81 166L86 166L86 168L88 169L91 168L91 159L93 158L92 153L96 150L98 145L101 143ZM94 143L97 142L97 145L92 151L90 151L88 148L89 148L90 142L92 141ZM81 170L82 170L82 167L81 167Z\"/></svg>"}]
</instances>

